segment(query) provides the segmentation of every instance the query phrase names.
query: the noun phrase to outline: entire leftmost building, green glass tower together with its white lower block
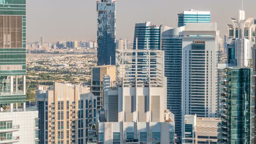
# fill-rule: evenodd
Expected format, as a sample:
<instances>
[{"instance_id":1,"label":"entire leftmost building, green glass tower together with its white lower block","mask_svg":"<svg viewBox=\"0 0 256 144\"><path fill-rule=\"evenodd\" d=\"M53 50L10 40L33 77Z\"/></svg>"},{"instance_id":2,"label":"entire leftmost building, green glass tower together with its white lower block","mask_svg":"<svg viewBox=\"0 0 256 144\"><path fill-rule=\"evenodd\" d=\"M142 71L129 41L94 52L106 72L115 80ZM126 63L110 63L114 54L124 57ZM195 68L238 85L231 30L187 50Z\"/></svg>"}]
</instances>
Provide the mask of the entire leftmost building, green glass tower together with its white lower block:
<instances>
[{"instance_id":1,"label":"entire leftmost building, green glass tower together with its white lower block","mask_svg":"<svg viewBox=\"0 0 256 144\"><path fill-rule=\"evenodd\" d=\"M26 0L1 0L0 13L0 144L38 144L38 111L26 108Z\"/></svg>"}]
</instances>

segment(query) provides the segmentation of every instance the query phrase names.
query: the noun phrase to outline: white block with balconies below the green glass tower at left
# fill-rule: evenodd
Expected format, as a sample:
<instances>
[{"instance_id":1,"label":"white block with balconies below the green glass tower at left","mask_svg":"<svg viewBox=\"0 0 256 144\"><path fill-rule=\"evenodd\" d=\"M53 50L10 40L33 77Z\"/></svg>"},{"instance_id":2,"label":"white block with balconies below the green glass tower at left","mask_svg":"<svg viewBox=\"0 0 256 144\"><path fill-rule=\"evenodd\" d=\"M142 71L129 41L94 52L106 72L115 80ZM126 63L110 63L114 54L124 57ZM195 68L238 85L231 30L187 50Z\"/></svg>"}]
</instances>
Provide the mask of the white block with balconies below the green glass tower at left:
<instances>
[{"instance_id":1,"label":"white block with balconies below the green glass tower at left","mask_svg":"<svg viewBox=\"0 0 256 144\"><path fill-rule=\"evenodd\" d=\"M11 123L10 127L3 128L3 122ZM0 124L0 144L37 144L38 111L1 112Z\"/></svg>"}]
</instances>

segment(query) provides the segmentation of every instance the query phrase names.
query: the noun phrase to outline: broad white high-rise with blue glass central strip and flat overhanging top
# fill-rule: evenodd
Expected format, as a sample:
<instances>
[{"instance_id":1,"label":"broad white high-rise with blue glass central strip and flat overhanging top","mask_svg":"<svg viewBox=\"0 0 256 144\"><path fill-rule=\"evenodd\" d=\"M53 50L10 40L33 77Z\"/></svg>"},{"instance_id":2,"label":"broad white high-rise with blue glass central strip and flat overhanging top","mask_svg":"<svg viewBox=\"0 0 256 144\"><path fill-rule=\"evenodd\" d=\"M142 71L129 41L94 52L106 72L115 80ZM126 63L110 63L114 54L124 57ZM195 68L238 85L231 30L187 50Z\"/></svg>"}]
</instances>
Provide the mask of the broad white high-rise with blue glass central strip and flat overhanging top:
<instances>
[{"instance_id":1,"label":"broad white high-rise with blue glass central strip and flat overhanging top","mask_svg":"<svg viewBox=\"0 0 256 144\"><path fill-rule=\"evenodd\" d=\"M216 23L187 23L182 38L182 115L217 116L219 32Z\"/></svg>"}]
</instances>

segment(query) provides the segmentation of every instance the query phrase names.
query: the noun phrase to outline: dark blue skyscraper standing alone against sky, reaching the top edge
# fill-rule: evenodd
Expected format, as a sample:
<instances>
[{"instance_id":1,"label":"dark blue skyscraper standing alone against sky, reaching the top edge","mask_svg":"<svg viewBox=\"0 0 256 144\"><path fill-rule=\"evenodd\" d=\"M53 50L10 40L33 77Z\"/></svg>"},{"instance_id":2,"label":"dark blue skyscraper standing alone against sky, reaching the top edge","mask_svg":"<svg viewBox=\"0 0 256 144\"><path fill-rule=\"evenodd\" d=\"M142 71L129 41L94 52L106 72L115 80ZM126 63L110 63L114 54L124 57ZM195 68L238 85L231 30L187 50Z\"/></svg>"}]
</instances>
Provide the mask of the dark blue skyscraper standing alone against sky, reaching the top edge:
<instances>
[{"instance_id":1,"label":"dark blue skyscraper standing alone against sky, reaching the top edge","mask_svg":"<svg viewBox=\"0 0 256 144\"><path fill-rule=\"evenodd\" d=\"M98 0L97 12L98 65L115 65L115 0Z\"/></svg>"}]
</instances>

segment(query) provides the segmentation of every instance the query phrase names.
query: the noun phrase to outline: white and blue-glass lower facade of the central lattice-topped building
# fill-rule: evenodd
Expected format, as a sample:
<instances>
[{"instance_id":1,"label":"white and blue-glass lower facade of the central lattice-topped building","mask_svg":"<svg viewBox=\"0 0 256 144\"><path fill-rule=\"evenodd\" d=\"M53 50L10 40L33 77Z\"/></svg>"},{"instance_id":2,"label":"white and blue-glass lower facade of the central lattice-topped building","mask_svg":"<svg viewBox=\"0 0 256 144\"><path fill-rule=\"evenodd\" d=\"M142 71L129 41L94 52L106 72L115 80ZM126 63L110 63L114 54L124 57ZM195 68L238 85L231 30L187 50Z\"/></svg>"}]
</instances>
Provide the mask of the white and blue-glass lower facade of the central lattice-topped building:
<instances>
[{"instance_id":1,"label":"white and blue-glass lower facade of the central lattice-topped building","mask_svg":"<svg viewBox=\"0 0 256 144\"><path fill-rule=\"evenodd\" d=\"M174 144L174 122L100 122L98 126L100 140L104 139L98 144Z\"/></svg>"}]
</instances>

